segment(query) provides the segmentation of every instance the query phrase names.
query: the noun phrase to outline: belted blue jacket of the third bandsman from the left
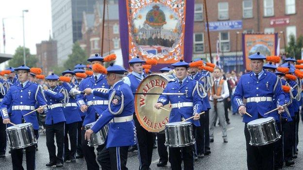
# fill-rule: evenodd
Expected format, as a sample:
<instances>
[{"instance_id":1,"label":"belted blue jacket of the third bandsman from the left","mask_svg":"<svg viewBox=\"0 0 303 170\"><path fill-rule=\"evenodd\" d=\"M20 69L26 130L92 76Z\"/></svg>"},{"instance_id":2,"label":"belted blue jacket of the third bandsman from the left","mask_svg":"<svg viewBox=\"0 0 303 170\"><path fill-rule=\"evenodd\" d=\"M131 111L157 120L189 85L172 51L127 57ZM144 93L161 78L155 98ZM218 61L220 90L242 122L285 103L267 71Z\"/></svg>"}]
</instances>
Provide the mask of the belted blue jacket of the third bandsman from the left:
<instances>
[{"instance_id":1,"label":"belted blue jacket of the third bandsman from the left","mask_svg":"<svg viewBox=\"0 0 303 170\"><path fill-rule=\"evenodd\" d=\"M67 90L68 93L72 88L72 86L67 82L63 82L62 86ZM81 111L77 106L76 98L70 95L68 95L68 97L69 97L68 103L63 104L63 113L66 119L66 124L82 121L80 116ZM76 106L72 106L72 105L76 105Z\"/></svg>"}]
</instances>

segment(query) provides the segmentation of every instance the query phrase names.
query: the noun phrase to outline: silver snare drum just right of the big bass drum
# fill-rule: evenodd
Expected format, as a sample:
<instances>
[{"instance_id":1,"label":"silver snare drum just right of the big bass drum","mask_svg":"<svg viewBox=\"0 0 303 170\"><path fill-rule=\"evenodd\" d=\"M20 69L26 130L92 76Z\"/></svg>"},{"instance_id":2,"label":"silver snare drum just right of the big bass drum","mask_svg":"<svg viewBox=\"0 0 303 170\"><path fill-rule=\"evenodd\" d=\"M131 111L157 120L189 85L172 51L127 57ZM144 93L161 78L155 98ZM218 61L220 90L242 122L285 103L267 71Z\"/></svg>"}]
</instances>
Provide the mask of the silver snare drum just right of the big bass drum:
<instances>
[{"instance_id":1,"label":"silver snare drum just right of the big bass drum","mask_svg":"<svg viewBox=\"0 0 303 170\"><path fill-rule=\"evenodd\" d=\"M165 145L168 147L184 147L193 145L195 139L190 122L174 122L165 125Z\"/></svg>"}]
</instances>

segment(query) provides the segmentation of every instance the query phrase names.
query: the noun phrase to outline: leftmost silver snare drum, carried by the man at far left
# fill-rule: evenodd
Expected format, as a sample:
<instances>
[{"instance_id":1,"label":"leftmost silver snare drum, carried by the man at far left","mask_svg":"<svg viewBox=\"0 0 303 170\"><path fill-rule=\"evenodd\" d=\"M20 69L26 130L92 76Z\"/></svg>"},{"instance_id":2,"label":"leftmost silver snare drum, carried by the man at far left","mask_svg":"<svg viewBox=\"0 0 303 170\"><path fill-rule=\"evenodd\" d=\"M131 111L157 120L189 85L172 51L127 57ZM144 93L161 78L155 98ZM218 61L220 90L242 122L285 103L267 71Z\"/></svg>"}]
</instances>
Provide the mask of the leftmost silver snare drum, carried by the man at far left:
<instances>
[{"instance_id":1,"label":"leftmost silver snare drum, carried by the man at far left","mask_svg":"<svg viewBox=\"0 0 303 170\"><path fill-rule=\"evenodd\" d=\"M21 149L37 143L32 123L17 124L6 129L11 149Z\"/></svg>"}]
</instances>

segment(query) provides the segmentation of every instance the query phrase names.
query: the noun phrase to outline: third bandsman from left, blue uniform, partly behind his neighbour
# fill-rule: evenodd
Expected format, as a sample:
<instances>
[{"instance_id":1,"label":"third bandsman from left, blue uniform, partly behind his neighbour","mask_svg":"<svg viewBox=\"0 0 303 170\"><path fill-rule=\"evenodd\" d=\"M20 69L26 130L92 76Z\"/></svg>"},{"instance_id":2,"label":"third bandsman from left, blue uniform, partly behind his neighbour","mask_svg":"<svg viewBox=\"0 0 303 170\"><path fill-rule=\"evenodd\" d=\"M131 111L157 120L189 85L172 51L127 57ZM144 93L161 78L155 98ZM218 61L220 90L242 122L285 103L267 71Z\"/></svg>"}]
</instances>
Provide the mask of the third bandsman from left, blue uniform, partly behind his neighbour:
<instances>
[{"instance_id":1,"label":"third bandsman from left, blue uniform, partly behind his neighbour","mask_svg":"<svg viewBox=\"0 0 303 170\"><path fill-rule=\"evenodd\" d=\"M62 72L62 75L65 77L73 77L75 73L66 70ZM69 92L73 84L63 82L62 86ZM65 125L65 138L64 138L64 161L76 162L76 150L77 150L77 124L82 121L80 117L80 110L77 106L77 101L75 97L68 95L68 103L63 104L63 112L66 119ZM82 124L81 124L82 126ZM68 140L68 136L69 140ZM68 149L68 141L70 143L70 150ZM81 141L81 140L80 140Z\"/></svg>"}]
</instances>

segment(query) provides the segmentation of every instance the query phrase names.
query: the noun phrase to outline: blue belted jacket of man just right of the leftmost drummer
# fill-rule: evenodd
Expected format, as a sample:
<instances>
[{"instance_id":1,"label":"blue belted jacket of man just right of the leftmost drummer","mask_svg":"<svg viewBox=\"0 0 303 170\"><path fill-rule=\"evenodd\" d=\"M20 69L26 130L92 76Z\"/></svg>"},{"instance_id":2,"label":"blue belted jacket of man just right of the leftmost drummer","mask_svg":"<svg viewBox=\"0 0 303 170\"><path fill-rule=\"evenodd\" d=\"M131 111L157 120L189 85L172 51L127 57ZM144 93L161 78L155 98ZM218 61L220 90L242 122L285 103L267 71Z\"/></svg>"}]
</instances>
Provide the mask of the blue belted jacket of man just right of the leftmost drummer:
<instances>
[{"instance_id":1,"label":"blue belted jacket of man just right of the leftmost drummer","mask_svg":"<svg viewBox=\"0 0 303 170\"><path fill-rule=\"evenodd\" d=\"M62 86L57 86L53 90L49 89L44 91L47 104L49 105L49 111L46 114L45 124L57 124L66 121L62 107L51 108L51 106L54 104L62 104L62 100L64 99L64 94L60 92L62 88Z\"/></svg>"}]
</instances>

